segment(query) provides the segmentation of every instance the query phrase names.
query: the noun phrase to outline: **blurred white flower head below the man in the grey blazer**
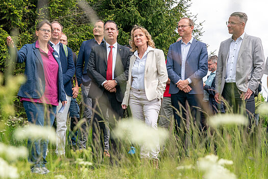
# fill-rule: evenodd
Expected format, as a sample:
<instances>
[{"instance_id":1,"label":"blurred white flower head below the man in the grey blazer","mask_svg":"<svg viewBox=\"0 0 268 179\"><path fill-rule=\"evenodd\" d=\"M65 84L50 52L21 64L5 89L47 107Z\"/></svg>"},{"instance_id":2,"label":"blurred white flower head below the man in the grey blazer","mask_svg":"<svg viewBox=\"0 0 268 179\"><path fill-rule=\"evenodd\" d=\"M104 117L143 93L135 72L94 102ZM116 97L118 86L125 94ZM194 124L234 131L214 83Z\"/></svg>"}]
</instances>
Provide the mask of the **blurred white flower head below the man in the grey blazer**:
<instances>
[{"instance_id":1,"label":"blurred white flower head below the man in the grey blazer","mask_svg":"<svg viewBox=\"0 0 268 179\"><path fill-rule=\"evenodd\" d=\"M241 124L247 125L249 120L243 116L238 114L218 114L209 118L209 124L212 127L217 127L224 124Z\"/></svg>"}]
</instances>

